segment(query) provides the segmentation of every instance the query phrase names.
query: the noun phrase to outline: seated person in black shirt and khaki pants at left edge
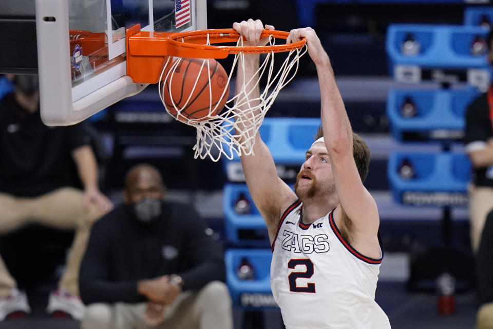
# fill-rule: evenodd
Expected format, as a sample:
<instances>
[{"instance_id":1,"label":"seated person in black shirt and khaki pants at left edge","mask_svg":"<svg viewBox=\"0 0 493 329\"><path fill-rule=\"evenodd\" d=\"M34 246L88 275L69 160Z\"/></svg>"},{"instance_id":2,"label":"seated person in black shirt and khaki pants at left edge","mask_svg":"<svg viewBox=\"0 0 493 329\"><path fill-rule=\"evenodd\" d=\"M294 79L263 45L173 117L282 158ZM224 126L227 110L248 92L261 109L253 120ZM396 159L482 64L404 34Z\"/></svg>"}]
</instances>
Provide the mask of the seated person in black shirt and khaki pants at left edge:
<instances>
[{"instance_id":1,"label":"seated person in black shirt and khaki pants at left edge","mask_svg":"<svg viewBox=\"0 0 493 329\"><path fill-rule=\"evenodd\" d=\"M98 188L91 138L81 124L48 127L41 121L36 75L0 79L2 90L7 90L0 99L0 233L30 223L75 230L66 268L58 289L50 294L47 312L80 319L84 314L78 288L80 262L90 227L112 207ZM79 183L74 176L83 190L73 187ZM0 320L18 312L30 312L27 297L0 258Z\"/></svg>"}]
</instances>

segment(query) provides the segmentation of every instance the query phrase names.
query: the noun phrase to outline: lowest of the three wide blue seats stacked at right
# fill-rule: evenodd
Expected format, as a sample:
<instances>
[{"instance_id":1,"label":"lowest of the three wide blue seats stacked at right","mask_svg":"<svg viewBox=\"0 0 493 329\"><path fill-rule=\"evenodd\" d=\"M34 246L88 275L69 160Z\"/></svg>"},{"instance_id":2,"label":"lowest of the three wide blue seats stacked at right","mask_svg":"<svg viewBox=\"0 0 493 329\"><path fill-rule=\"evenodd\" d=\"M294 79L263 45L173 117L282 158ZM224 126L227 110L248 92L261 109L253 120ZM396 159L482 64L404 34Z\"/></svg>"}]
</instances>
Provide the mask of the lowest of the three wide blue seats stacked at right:
<instances>
[{"instance_id":1,"label":"lowest of the three wide blue seats stacked at right","mask_svg":"<svg viewBox=\"0 0 493 329\"><path fill-rule=\"evenodd\" d=\"M399 167L407 159L415 176L405 179ZM393 153L387 176L397 203L415 206L467 206L471 165L462 153Z\"/></svg>"}]
</instances>

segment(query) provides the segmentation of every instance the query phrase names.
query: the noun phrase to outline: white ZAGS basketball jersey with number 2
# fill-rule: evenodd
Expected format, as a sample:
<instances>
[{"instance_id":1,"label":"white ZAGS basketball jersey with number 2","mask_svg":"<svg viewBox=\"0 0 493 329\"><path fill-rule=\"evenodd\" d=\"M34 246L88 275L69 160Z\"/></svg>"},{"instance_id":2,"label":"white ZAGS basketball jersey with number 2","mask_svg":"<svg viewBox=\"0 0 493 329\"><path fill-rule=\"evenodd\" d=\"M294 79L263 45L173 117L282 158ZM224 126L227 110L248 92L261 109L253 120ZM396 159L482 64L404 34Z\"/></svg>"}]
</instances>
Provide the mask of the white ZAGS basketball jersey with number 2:
<instances>
[{"instance_id":1,"label":"white ZAGS basketball jersey with number 2","mask_svg":"<svg viewBox=\"0 0 493 329\"><path fill-rule=\"evenodd\" d=\"M272 245L271 287L287 329L386 329L375 302L381 259L358 253L332 212L301 223L297 200L282 215Z\"/></svg>"}]
</instances>

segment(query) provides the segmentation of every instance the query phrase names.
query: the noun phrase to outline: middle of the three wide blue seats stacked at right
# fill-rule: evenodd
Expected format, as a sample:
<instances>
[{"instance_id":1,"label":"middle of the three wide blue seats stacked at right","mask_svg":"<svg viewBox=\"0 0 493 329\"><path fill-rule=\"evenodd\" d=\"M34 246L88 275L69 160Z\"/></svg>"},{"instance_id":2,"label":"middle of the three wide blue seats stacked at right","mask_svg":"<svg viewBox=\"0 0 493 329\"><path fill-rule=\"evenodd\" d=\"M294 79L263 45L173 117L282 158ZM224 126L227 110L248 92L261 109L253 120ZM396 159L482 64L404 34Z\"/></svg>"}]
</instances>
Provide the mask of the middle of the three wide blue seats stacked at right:
<instances>
[{"instance_id":1,"label":"middle of the three wide blue seats stacked at right","mask_svg":"<svg viewBox=\"0 0 493 329\"><path fill-rule=\"evenodd\" d=\"M464 135L467 106L477 97L476 89L468 90L390 90L387 97L387 117L392 136L400 141L458 140ZM418 115L405 118L401 106L409 97ZM408 137L406 137L408 136Z\"/></svg>"}]
</instances>

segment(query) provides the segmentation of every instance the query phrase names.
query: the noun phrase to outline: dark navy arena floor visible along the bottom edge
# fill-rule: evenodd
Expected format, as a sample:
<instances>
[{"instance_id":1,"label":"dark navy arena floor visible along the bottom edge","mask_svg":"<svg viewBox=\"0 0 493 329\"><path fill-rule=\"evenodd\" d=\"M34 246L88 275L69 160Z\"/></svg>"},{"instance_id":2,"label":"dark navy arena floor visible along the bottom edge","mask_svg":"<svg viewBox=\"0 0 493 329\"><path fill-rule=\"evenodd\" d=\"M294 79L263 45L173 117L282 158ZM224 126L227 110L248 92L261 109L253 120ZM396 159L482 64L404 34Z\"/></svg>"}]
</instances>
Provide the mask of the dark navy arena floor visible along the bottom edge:
<instances>
[{"instance_id":1,"label":"dark navy arena floor visible along the bottom edge","mask_svg":"<svg viewBox=\"0 0 493 329\"><path fill-rule=\"evenodd\" d=\"M388 255L390 256L390 255ZM392 262L405 262L402 255L395 255ZM392 265L389 265L392 266ZM385 268L382 268L384 271ZM392 279L391 279L392 280ZM46 302L51 287L41 287L29 295L32 313L25 319L0 322L0 329L75 329L78 321L52 319L45 313ZM403 281L378 282L376 301L382 306L396 329L469 329L475 324L476 300L472 291L456 295L456 313L442 316L437 312L437 296L431 293L406 293ZM234 310L235 329L262 329L243 326L243 312ZM265 329L282 329L279 312L263 313Z\"/></svg>"}]
</instances>

